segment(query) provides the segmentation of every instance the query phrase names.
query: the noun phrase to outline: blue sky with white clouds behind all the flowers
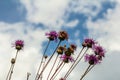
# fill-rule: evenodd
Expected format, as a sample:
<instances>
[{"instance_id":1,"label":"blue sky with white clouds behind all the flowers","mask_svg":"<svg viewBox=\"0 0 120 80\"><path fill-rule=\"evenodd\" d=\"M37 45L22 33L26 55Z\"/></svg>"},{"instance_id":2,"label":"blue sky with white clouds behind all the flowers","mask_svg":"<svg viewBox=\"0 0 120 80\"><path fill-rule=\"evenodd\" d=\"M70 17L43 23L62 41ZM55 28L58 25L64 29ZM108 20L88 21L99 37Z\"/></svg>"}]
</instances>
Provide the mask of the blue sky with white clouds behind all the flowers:
<instances>
[{"instance_id":1,"label":"blue sky with white clouds behind all the flowers","mask_svg":"<svg viewBox=\"0 0 120 80\"><path fill-rule=\"evenodd\" d=\"M76 44L76 53L87 37L106 49L103 62L84 80L120 80L119 21L120 0L0 0L0 80L6 78L16 52L11 44L17 39L24 40L25 47L18 55L12 80L25 80L27 72L31 73L30 80L34 80L48 41L45 33L51 30L67 31L69 40L64 43ZM52 51L50 49L48 55ZM87 66L84 61L81 64L68 80L79 80ZM69 65L58 78L65 74Z\"/></svg>"}]
</instances>

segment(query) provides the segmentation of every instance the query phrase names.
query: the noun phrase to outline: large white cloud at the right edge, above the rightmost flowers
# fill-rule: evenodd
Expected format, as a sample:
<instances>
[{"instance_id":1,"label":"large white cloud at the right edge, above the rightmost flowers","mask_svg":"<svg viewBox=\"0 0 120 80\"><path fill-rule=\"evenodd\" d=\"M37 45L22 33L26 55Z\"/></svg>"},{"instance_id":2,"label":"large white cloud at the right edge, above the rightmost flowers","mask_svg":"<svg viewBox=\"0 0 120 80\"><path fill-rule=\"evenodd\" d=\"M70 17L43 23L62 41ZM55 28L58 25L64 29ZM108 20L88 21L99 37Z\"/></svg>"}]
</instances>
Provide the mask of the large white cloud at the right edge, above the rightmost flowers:
<instances>
[{"instance_id":1,"label":"large white cloud at the right edge, above the rightmost flowers","mask_svg":"<svg viewBox=\"0 0 120 80\"><path fill-rule=\"evenodd\" d=\"M119 32L119 20L120 20L120 4L115 9L108 9L107 14L104 15L104 19L98 19L92 22L88 20L87 26L90 35L96 37L101 43L103 43L108 50L119 50L120 35Z\"/></svg>"}]
</instances>

